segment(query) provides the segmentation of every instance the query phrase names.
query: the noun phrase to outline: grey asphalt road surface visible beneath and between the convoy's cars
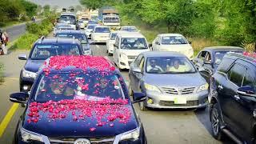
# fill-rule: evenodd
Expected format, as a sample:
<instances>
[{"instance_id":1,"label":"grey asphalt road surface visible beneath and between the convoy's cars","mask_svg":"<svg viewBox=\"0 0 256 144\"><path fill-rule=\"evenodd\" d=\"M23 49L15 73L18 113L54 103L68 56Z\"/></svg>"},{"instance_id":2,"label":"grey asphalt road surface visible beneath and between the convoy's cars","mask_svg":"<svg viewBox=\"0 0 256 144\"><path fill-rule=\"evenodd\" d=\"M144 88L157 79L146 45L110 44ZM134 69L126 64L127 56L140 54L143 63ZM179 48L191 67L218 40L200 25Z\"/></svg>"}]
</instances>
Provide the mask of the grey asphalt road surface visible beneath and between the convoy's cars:
<instances>
[{"instance_id":1,"label":"grey asphalt road surface visible beneath and between the convoy's cars","mask_svg":"<svg viewBox=\"0 0 256 144\"><path fill-rule=\"evenodd\" d=\"M106 56L105 45L92 45L95 55ZM19 71L25 61L18 60L18 54L28 53L28 51L15 51L6 56L0 57L0 62L5 64L5 82L0 86L0 122L6 116L13 103L9 101L9 94L18 91ZM110 59L112 59L110 57ZM122 71L124 78L128 78L128 70ZM148 110L141 111L138 104L134 107L142 119L148 143L169 144L169 143L222 143L216 141L211 136L208 109L203 111L194 110ZM24 109L18 106L9 125L6 127L0 144L12 142L14 130L19 116ZM224 143L232 143L226 140Z\"/></svg>"}]
</instances>

